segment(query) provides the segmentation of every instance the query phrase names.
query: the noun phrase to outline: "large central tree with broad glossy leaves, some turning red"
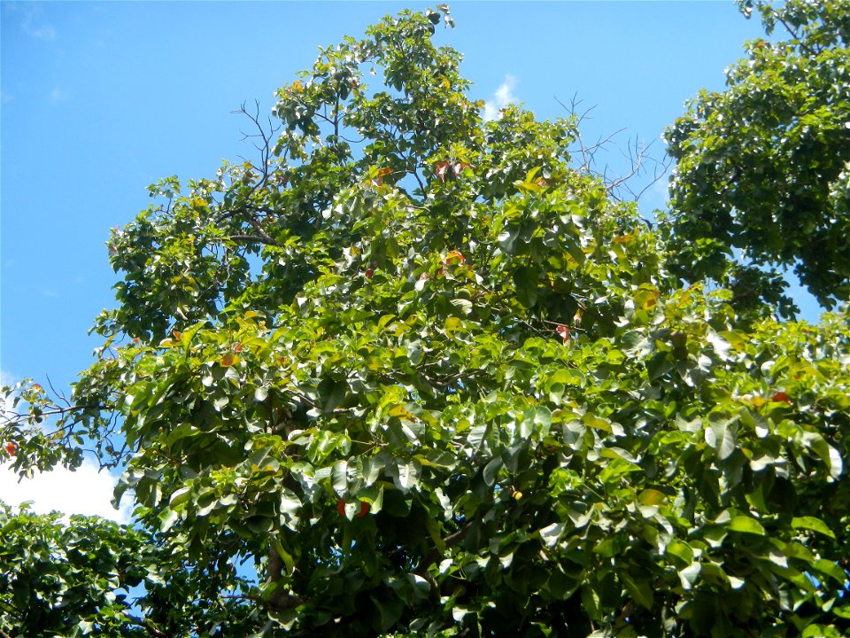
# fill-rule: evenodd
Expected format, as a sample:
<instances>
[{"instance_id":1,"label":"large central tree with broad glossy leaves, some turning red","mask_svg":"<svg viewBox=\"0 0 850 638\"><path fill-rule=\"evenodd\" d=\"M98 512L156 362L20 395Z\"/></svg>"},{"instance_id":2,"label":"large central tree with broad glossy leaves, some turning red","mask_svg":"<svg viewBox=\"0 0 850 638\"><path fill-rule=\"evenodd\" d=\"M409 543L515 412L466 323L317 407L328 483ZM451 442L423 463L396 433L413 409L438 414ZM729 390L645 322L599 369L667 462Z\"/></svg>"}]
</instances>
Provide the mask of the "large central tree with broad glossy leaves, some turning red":
<instances>
[{"instance_id":1,"label":"large central tree with broad glossy leaves, some turning red","mask_svg":"<svg viewBox=\"0 0 850 638\"><path fill-rule=\"evenodd\" d=\"M842 634L847 315L681 287L575 120L482 122L441 19L322 50L257 161L112 232L97 361L0 431L19 471L124 469L142 616L79 633ZM19 630L55 599L10 573Z\"/></svg>"}]
</instances>

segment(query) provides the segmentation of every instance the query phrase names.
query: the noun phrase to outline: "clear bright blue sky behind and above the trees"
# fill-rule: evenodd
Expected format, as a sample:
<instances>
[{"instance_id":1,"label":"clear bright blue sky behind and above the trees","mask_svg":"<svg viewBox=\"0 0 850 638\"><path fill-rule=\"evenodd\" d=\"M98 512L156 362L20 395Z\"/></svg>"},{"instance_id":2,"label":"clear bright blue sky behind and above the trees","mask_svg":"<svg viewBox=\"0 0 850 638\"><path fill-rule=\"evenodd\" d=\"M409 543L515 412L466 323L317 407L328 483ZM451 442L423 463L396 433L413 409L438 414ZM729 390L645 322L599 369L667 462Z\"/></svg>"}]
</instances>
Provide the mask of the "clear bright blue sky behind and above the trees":
<instances>
[{"instance_id":1,"label":"clear bright blue sky behind and above the trees","mask_svg":"<svg viewBox=\"0 0 850 638\"><path fill-rule=\"evenodd\" d=\"M86 333L112 306L104 242L148 206L160 177L213 176L249 156L230 112L313 64L317 47L359 36L395 2L12 3L0 7L0 370L57 387L88 367ZM654 142L700 88L761 35L728 2L456 2L437 42L464 53L473 97L564 115L595 105L583 136L621 128ZM643 206L663 205L663 188ZM815 306L805 306L815 318ZM68 481L64 480L67 484ZM0 499L22 488L4 486ZM5 495L4 495L5 493Z\"/></svg>"}]
</instances>

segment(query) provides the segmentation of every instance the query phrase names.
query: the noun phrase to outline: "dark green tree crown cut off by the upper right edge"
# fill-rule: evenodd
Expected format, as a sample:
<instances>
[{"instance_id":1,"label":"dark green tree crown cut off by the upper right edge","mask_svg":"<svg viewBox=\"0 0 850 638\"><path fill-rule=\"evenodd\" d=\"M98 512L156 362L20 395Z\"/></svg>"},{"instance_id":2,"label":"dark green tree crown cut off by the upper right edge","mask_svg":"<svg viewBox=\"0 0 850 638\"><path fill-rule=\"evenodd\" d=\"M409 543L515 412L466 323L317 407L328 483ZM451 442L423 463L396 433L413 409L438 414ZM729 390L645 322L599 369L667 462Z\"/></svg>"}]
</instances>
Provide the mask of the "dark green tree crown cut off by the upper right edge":
<instances>
[{"instance_id":1,"label":"dark green tree crown cut off by the upper right edge","mask_svg":"<svg viewBox=\"0 0 850 638\"><path fill-rule=\"evenodd\" d=\"M738 4L788 39L747 43L727 89L701 91L667 131L677 271L777 302L777 267L793 267L834 307L850 297L850 4Z\"/></svg>"}]
</instances>

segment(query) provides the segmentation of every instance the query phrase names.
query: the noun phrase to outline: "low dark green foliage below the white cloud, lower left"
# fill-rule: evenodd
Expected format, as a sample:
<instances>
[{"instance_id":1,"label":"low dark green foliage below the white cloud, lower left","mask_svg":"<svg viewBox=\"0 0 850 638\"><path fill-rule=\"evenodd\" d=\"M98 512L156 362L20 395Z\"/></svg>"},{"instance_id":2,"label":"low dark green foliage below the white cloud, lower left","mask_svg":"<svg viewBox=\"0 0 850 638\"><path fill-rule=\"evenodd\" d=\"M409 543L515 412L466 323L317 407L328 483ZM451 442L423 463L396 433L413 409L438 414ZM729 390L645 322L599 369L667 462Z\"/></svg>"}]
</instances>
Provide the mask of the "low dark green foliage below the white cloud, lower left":
<instances>
[{"instance_id":1,"label":"low dark green foliage below the white cloud, lower left","mask_svg":"<svg viewBox=\"0 0 850 638\"><path fill-rule=\"evenodd\" d=\"M128 525L0 503L0 534L0 635L247 635L256 624L242 599L220 598L247 587L233 565L187 570L183 556Z\"/></svg>"}]
</instances>

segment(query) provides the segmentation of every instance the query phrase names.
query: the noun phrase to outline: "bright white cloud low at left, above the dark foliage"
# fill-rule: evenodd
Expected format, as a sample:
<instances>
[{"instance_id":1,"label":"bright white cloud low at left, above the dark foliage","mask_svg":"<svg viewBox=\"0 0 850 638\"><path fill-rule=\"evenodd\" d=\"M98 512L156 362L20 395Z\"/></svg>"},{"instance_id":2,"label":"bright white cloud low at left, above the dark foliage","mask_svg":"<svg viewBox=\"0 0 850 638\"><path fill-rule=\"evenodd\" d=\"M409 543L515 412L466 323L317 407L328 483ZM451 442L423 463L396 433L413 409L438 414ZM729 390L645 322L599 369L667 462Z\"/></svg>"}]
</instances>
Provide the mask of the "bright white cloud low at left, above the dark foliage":
<instances>
[{"instance_id":1,"label":"bright white cloud low at left, above the dark foliage","mask_svg":"<svg viewBox=\"0 0 850 638\"><path fill-rule=\"evenodd\" d=\"M10 471L11 464L0 465L0 501L18 506L32 501L36 514L60 511L68 516L84 514L110 518L118 523L130 521L132 505L125 499L120 510L110 502L115 478L108 471L97 471L97 465L83 461L76 471L57 468L36 473L33 478L23 478Z\"/></svg>"}]
</instances>

